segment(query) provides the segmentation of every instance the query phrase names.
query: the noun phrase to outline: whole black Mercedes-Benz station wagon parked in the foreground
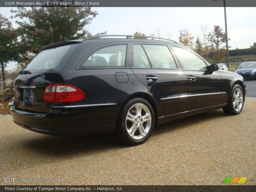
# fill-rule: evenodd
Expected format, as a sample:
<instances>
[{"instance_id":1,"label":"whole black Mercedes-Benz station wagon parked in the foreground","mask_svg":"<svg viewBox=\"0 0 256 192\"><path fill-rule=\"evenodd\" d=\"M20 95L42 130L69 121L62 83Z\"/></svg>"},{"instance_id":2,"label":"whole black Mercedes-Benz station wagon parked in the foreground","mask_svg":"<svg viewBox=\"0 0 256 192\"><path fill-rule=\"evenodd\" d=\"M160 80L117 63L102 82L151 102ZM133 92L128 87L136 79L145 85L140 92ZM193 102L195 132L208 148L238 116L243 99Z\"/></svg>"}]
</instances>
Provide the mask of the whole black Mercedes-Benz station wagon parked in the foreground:
<instances>
[{"instance_id":1,"label":"whole black Mercedes-Benz station wagon parked in the foreground","mask_svg":"<svg viewBox=\"0 0 256 192\"><path fill-rule=\"evenodd\" d=\"M180 117L218 108L239 114L246 91L242 76L174 41L107 35L46 46L14 89L13 120L29 130L116 131L130 145Z\"/></svg>"}]
</instances>

